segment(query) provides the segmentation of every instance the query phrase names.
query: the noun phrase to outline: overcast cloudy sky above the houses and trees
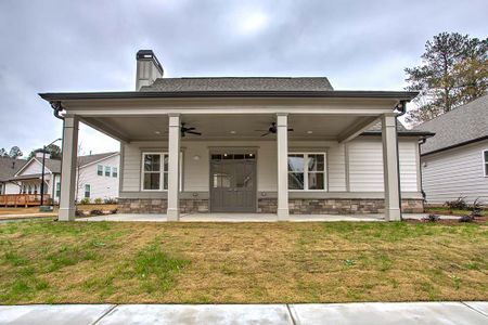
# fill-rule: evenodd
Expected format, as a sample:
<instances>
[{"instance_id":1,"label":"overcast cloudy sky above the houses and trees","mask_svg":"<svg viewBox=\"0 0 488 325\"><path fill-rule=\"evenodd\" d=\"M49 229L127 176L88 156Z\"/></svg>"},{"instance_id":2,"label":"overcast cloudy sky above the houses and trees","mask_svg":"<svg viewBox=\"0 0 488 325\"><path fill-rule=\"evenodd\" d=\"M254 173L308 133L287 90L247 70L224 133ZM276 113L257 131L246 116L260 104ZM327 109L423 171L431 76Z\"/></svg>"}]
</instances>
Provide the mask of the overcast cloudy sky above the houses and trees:
<instances>
[{"instance_id":1,"label":"overcast cloudy sky above the houses and trees","mask_svg":"<svg viewBox=\"0 0 488 325\"><path fill-rule=\"evenodd\" d=\"M61 136L37 93L133 90L136 52L167 77L326 76L335 89L402 90L441 31L487 37L487 0L0 0L0 147ZM81 127L85 153L118 143Z\"/></svg>"}]
</instances>

